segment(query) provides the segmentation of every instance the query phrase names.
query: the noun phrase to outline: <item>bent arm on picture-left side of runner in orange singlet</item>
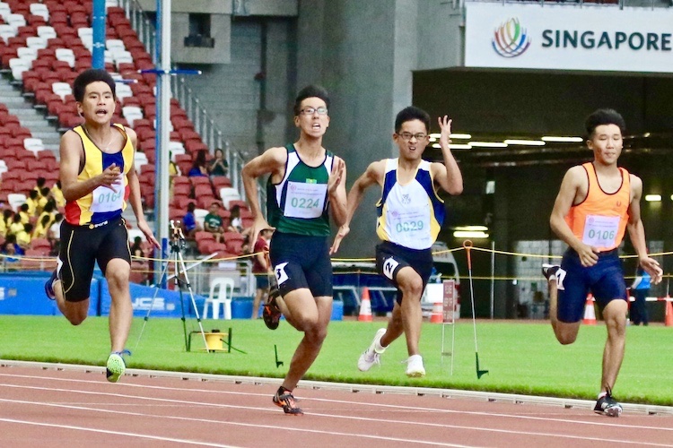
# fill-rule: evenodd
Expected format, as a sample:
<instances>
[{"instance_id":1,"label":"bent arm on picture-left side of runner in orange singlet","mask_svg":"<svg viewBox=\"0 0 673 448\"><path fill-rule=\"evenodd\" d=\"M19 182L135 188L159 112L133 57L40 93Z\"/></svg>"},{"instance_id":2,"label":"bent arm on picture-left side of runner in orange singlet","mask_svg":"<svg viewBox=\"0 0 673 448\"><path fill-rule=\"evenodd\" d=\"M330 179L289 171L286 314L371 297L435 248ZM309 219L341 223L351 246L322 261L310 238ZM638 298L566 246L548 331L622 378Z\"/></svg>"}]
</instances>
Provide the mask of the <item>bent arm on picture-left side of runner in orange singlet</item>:
<instances>
[{"instance_id":1,"label":"bent arm on picture-left side of runner in orange singlet","mask_svg":"<svg viewBox=\"0 0 673 448\"><path fill-rule=\"evenodd\" d=\"M595 247L585 245L580 239L575 237L564 218L570 211L572 204L579 202L578 199L581 201L586 196L588 185L589 180L584 168L579 165L570 168L565 173L561 189L554 202L554 210L549 219L549 225L554 230L556 236L564 240L580 256L582 266L593 266L598 263L598 250Z\"/></svg>"}]
</instances>

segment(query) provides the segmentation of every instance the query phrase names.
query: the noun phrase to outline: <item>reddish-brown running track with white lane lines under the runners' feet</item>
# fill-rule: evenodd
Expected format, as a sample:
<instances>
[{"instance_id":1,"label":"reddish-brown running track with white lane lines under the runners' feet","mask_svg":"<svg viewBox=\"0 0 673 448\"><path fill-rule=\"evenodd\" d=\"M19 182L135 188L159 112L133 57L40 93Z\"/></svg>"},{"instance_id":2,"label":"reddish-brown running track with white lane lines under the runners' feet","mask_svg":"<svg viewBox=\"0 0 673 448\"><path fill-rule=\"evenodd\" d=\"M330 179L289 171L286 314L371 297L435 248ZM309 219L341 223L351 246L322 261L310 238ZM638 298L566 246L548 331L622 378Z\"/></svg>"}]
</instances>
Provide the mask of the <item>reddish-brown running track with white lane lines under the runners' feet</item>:
<instances>
[{"instance_id":1,"label":"reddish-brown running track with white lane lines under the runners' feet","mask_svg":"<svg viewBox=\"0 0 673 448\"><path fill-rule=\"evenodd\" d=\"M673 409L484 392L302 382L306 413L271 403L280 380L0 360L0 445L671 446Z\"/></svg>"}]
</instances>

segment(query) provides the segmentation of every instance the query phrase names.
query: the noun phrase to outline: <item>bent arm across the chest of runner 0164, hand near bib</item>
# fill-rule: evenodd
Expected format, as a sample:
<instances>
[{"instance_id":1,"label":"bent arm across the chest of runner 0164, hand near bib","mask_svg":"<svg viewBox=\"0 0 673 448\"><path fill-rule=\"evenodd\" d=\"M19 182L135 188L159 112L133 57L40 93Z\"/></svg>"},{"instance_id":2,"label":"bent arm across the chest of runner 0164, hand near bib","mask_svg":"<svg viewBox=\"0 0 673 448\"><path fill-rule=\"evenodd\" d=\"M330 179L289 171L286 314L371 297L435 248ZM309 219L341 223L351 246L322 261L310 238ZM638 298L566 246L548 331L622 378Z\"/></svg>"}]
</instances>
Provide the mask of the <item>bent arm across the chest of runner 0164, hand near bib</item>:
<instances>
[{"instance_id":1,"label":"bent arm across the chest of runner 0164, hand near bib","mask_svg":"<svg viewBox=\"0 0 673 448\"><path fill-rule=\"evenodd\" d=\"M113 189L112 185L121 181L121 170L115 165L106 168L98 176L84 181L77 180L84 159L84 149L82 139L72 130L61 137L59 153L61 189L66 201L76 201L101 185Z\"/></svg>"}]
</instances>

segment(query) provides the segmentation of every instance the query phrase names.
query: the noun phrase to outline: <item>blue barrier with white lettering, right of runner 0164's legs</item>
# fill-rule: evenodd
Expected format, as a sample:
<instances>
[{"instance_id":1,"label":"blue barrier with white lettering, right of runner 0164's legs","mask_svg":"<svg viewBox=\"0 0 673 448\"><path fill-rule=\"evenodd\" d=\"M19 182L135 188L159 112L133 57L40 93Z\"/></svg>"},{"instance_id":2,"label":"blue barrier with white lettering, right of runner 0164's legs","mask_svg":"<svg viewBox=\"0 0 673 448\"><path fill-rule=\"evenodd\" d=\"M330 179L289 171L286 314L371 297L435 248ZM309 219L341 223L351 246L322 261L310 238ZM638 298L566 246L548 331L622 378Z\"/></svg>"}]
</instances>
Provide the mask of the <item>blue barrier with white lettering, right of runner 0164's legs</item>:
<instances>
[{"instance_id":1,"label":"blue barrier with white lettering, right of runner 0164's legs","mask_svg":"<svg viewBox=\"0 0 673 448\"><path fill-rule=\"evenodd\" d=\"M148 310L150 311L150 317L182 317L179 291L171 291L169 289L157 290L154 287L138 285L136 283L131 283L130 290L133 315L135 317L146 316ZM156 294L156 297L154 297L154 294ZM182 292L182 299L185 306L185 316L196 317L188 291ZM112 297L109 295L108 282L103 279L101 281L101 315L109 315L111 300ZM199 304L204 303L205 297L195 294L194 301L199 306Z\"/></svg>"}]
</instances>

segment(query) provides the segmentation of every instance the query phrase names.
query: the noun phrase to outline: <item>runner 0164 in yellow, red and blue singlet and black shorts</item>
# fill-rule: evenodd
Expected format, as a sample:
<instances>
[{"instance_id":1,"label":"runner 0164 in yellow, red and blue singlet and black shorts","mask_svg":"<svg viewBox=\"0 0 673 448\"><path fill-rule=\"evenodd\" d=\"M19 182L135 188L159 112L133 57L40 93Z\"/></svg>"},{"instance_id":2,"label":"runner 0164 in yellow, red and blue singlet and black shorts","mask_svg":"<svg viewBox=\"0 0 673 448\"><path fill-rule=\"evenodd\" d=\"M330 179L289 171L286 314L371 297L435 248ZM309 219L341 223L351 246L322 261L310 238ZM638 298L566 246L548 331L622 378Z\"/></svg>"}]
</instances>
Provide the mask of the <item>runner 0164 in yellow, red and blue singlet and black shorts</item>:
<instances>
[{"instance_id":1,"label":"runner 0164 in yellow, red and blue singlet and black shorts","mask_svg":"<svg viewBox=\"0 0 673 448\"><path fill-rule=\"evenodd\" d=\"M123 355L133 320L131 254L122 218L127 204L146 241L160 246L143 213L134 167L137 135L124 125L112 124L117 106L115 80L105 70L84 70L74 80L73 95L84 122L61 136L59 175L68 210L61 238L67 245L61 245L57 271L45 283L45 292L56 299L70 323L83 323L89 314L92 273L98 261L111 296L106 374L109 382L116 383L126 371Z\"/></svg>"}]
</instances>

